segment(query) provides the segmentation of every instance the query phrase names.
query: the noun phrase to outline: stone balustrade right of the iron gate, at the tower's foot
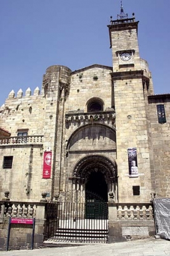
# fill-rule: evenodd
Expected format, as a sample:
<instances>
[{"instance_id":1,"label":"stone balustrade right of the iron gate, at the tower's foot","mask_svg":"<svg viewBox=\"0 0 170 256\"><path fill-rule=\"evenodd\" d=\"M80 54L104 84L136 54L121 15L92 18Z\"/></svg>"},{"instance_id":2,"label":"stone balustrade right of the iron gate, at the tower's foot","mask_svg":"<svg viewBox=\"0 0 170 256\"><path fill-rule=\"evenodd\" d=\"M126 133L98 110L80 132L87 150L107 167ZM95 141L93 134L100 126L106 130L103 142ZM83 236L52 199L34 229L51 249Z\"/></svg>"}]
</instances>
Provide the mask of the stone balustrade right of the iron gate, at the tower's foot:
<instances>
[{"instance_id":1,"label":"stone balustrade right of the iron gate, at the tower's foot","mask_svg":"<svg viewBox=\"0 0 170 256\"><path fill-rule=\"evenodd\" d=\"M153 221L152 203L118 203L118 221Z\"/></svg>"}]
</instances>

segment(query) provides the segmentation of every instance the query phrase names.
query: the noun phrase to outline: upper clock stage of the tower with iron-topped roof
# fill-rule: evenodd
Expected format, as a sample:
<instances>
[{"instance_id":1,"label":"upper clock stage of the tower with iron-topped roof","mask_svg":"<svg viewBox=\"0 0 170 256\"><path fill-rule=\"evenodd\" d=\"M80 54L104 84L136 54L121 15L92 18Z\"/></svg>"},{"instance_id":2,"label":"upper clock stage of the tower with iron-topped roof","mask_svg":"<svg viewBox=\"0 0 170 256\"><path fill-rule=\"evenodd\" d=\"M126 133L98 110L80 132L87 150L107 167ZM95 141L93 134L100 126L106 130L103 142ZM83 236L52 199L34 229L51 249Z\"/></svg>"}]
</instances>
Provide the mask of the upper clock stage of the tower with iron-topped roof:
<instances>
[{"instance_id":1,"label":"upper clock stage of the tower with iron-topped roof","mask_svg":"<svg viewBox=\"0 0 170 256\"><path fill-rule=\"evenodd\" d=\"M117 20L110 20L110 48L113 56L113 72L140 69L139 46L137 41L138 23L134 14L128 18L124 14L121 2L121 12ZM111 17L112 19L112 17Z\"/></svg>"}]
</instances>

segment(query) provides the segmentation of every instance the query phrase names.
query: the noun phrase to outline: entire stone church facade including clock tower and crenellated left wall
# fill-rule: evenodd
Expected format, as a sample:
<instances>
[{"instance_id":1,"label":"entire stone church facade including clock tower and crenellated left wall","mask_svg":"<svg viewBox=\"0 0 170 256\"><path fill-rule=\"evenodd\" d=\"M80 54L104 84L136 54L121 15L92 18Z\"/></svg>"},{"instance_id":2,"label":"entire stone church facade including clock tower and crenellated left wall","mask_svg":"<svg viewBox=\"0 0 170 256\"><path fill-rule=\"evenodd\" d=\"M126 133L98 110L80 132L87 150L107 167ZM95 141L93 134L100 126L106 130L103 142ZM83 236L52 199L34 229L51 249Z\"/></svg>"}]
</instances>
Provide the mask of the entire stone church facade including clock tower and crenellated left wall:
<instances>
[{"instance_id":1,"label":"entire stone church facade including clock tower and crenellated left wall","mask_svg":"<svg viewBox=\"0 0 170 256\"><path fill-rule=\"evenodd\" d=\"M154 95L138 23L108 25L113 65L51 66L0 109L0 196L147 203L170 197L170 94Z\"/></svg>"}]
</instances>

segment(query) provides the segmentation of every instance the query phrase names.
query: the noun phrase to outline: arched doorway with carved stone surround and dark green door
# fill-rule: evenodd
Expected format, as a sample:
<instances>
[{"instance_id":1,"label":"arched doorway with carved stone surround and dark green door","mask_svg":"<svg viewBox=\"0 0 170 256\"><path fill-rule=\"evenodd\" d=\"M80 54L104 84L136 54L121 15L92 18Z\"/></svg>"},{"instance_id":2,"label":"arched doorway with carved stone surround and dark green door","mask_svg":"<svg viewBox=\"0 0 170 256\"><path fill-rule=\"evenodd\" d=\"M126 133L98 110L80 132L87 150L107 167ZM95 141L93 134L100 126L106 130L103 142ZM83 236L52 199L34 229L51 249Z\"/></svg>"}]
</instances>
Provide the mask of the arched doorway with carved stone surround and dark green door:
<instances>
[{"instance_id":1,"label":"arched doorway with carved stone surround and dark green door","mask_svg":"<svg viewBox=\"0 0 170 256\"><path fill-rule=\"evenodd\" d=\"M76 191L85 192L86 218L105 218L107 207L102 204L107 205L109 192L117 197L116 163L102 155L86 156L76 164L71 179Z\"/></svg>"}]
</instances>

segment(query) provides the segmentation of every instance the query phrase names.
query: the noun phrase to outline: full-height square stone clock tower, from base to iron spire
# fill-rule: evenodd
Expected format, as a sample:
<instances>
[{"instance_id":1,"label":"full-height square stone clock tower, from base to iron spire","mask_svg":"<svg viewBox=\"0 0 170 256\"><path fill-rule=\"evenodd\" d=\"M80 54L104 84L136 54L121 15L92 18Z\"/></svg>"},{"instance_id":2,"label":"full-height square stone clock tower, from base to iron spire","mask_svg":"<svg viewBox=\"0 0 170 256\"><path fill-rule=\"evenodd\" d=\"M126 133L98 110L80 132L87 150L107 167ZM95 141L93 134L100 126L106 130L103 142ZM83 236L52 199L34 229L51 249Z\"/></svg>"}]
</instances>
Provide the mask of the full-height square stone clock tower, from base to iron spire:
<instances>
[{"instance_id":1,"label":"full-height square stone clock tower, from base to iron spire","mask_svg":"<svg viewBox=\"0 0 170 256\"><path fill-rule=\"evenodd\" d=\"M150 71L140 58L137 40L138 24L134 14L121 12L108 25L113 56L113 102L116 111L116 153L118 164L119 202L150 200L151 176L147 126L147 95L150 92ZM131 175L128 152L136 150L138 173ZM131 161L132 163L132 161ZM139 194L134 196L137 187Z\"/></svg>"}]
</instances>

